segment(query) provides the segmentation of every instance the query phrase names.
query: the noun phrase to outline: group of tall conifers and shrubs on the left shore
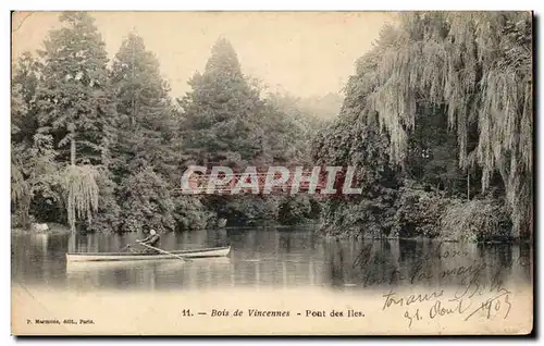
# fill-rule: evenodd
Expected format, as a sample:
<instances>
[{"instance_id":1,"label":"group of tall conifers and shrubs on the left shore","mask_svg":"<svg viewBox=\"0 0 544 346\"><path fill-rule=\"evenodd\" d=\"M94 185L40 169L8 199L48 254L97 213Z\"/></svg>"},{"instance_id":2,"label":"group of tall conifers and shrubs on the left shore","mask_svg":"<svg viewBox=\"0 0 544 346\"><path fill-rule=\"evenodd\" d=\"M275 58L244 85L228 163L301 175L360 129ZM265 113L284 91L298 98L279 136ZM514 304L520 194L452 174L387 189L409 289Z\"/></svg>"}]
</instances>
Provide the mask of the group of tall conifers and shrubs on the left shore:
<instances>
[{"instance_id":1,"label":"group of tall conifers and shrubs on the left shore","mask_svg":"<svg viewBox=\"0 0 544 346\"><path fill-rule=\"evenodd\" d=\"M94 18L60 15L38 57L23 54L12 78L12 215L73 230L203 228L259 220L306 221L306 199L184 196L191 163L286 164L308 159L321 122L287 95L263 96L220 38L191 91L171 99L154 54L128 33L109 64Z\"/></svg>"}]
</instances>

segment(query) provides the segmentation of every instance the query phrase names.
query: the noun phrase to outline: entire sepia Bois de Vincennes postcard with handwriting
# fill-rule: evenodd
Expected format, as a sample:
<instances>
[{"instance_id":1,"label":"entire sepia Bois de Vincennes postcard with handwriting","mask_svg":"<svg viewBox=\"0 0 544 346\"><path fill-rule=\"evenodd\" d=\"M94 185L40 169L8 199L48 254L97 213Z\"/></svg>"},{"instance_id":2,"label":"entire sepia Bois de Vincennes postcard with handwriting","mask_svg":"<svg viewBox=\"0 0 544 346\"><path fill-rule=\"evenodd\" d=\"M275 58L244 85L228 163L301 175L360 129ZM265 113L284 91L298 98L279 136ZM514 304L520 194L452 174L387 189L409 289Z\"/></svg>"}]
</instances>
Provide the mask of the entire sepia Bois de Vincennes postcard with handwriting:
<instances>
[{"instance_id":1,"label":"entire sepia Bois de Vincennes postcard with handwriting","mask_svg":"<svg viewBox=\"0 0 544 346\"><path fill-rule=\"evenodd\" d=\"M533 20L11 12L11 333L532 333Z\"/></svg>"}]
</instances>

